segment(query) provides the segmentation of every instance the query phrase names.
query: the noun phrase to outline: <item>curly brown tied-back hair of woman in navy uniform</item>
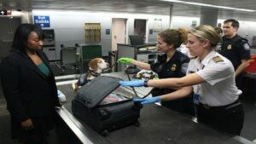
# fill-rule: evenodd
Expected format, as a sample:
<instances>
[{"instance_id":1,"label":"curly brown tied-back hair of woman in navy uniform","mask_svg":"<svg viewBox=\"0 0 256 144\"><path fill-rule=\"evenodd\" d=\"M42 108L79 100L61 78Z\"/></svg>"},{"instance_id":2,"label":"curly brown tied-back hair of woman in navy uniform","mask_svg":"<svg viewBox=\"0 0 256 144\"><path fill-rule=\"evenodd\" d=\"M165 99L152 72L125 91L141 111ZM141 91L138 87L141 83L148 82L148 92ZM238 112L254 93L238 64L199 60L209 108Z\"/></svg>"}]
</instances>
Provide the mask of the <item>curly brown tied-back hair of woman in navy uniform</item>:
<instances>
[{"instance_id":1,"label":"curly brown tied-back hair of woman in navy uniform","mask_svg":"<svg viewBox=\"0 0 256 144\"><path fill-rule=\"evenodd\" d=\"M185 28L167 29L158 34L165 43L172 45L174 48L180 47L180 45L187 41L188 31Z\"/></svg>"}]
</instances>

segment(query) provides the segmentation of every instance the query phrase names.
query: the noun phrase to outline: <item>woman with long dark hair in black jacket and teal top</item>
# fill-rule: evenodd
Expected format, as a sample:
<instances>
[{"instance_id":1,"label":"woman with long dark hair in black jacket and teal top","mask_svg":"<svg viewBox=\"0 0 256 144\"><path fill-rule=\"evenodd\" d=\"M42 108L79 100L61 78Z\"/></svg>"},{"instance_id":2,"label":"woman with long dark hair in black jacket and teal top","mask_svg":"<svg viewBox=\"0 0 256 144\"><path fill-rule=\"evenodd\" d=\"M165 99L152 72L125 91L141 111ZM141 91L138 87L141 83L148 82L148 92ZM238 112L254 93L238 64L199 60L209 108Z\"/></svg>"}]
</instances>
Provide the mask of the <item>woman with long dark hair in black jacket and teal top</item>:
<instances>
[{"instance_id":1,"label":"woman with long dark hair in black jacket and teal top","mask_svg":"<svg viewBox=\"0 0 256 144\"><path fill-rule=\"evenodd\" d=\"M12 138L21 143L44 143L55 122L54 108L61 107L43 43L44 32L39 26L21 24L10 54L0 65Z\"/></svg>"}]
</instances>

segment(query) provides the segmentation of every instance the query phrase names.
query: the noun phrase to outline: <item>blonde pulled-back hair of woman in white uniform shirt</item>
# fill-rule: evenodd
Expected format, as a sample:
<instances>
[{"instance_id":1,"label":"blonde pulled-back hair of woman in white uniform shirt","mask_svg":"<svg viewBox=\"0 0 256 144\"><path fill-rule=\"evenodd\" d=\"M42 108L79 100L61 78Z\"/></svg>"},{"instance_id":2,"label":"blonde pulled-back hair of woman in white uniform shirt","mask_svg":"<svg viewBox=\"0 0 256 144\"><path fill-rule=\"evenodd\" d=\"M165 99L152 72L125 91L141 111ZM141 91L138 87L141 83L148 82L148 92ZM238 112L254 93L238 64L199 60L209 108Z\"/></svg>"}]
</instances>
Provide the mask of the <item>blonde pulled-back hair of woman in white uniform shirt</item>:
<instances>
[{"instance_id":1,"label":"blonde pulled-back hair of woman in white uniform shirt","mask_svg":"<svg viewBox=\"0 0 256 144\"><path fill-rule=\"evenodd\" d=\"M189 33L197 37L200 41L209 40L212 47L215 47L221 40L220 35L209 25L197 26L191 29Z\"/></svg>"}]
</instances>

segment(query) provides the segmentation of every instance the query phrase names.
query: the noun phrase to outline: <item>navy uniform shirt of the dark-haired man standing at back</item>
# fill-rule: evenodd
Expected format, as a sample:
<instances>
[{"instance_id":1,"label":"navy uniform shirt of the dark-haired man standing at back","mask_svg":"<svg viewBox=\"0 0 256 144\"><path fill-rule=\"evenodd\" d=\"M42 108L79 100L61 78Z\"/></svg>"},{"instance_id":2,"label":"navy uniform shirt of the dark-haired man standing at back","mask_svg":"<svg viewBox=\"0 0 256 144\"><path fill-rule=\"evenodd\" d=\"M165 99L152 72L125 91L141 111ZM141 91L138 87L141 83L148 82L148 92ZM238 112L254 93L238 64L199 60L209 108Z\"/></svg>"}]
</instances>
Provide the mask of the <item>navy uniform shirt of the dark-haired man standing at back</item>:
<instances>
[{"instance_id":1,"label":"navy uniform shirt of the dark-haired man standing at back","mask_svg":"<svg viewBox=\"0 0 256 144\"><path fill-rule=\"evenodd\" d=\"M250 59L250 45L246 38L239 35L232 38L223 37L220 54L228 58L236 70L241 60Z\"/></svg>"}]
</instances>

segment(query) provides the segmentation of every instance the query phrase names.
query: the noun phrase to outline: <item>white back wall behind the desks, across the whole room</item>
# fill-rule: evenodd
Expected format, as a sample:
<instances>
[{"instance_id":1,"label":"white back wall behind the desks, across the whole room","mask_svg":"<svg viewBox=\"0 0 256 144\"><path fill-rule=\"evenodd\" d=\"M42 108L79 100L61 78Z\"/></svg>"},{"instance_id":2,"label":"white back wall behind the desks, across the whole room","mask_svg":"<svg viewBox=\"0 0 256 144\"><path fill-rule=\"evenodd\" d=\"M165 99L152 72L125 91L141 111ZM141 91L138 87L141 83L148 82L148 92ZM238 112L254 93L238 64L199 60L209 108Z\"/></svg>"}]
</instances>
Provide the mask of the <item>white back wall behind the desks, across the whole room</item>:
<instances>
[{"instance_id":1,"label":"white back wall behind the desks, across the whole room","mask_svg":"<svg viewBox=\"0 0 256 144\"><path fill-rule=\"evenodd\" d=\"M84 11L57 11L57 10L32 10L33 15L49 15L50 27L55 29L55 47L57 49L57 58L60 59L59 50L60 45L63 43L66 46L74 46L75 43L79 44L101 44L102 55L108 55L111 50L111 33L112 33L112 19L122 18L127 19L126 32L127 36L134 34L134 20L143 19L147 20L148 42L155 42L158 32L149 34L149 30L154 27L154 19L162 20L162 31L169 28L169 15L160 14L126 14L126 13L102 13L102 12L84 12ZM29 19L28 19L29 21ZM196 25L192 25L193 21ZM218 20L222 23L224 20ZM84 23L101 23L102 26L102 41L101 43L84 43ZM256 22L254 21L240 21L241 26L238 33L242 37L247 37L249 43L252 43L253 35L256 35ZM172 28L187 27L192 28L199 26L199 17L186 17L186 16L172 16ZM110 29L110 34L106 35L106 29ZM126 37L126 42L128 37ZM147 43L147 42L146 42Z\"/></svg>"}]
</instances>

